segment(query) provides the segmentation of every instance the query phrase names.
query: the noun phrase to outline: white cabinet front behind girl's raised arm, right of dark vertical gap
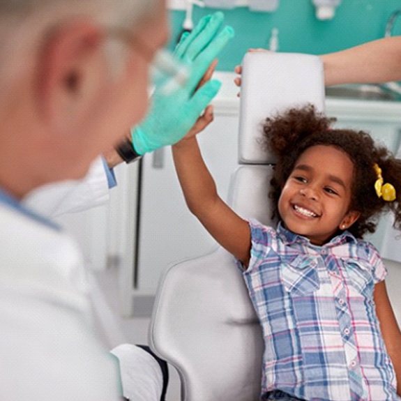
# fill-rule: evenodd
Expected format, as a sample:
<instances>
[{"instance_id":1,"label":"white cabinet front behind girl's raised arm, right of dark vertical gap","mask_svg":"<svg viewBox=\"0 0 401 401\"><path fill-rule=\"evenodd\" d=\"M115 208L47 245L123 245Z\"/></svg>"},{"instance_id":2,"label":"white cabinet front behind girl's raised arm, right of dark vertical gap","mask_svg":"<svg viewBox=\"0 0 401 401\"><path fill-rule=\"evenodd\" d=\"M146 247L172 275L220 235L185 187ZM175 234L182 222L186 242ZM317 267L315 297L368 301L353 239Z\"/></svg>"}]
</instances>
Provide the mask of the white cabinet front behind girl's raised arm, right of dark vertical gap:
<instances>
[{"instance_id":1,"label":"white cabinet front behind girl's raised arm, right of dark vertical gap","mask_svg":"<svg viewBox=\"0 0 401 401\"><path fill-rule=\"evenodd\" d=\"M220 112L215 112L215 121L198 135L223 199L227 199L229 179L237 165L237 136L238 115ZM154 294L160 271L168 264L204 255L215 241L186 207L171 149L146 155L142 162L137 289Z\"/></svg>"}]
</instances>

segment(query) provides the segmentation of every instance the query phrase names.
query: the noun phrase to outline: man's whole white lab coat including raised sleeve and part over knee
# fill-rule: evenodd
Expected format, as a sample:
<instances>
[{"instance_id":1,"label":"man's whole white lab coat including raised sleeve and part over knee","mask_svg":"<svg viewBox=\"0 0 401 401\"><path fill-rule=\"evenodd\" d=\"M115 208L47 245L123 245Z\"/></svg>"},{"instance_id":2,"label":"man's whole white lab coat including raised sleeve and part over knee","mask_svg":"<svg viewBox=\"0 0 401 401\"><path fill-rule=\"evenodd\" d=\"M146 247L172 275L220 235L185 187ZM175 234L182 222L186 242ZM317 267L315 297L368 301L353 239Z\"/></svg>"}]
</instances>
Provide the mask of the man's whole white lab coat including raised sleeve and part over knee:
<instances>
[{"instance_id":1,"label":"man's whole white lab coat including raised sleeve and part over knee","mask_svg":"<svg viewBox=\"0 0 401 401\"><path fill-rule=\"evenodd\" d=\"M108 199L102 160L80 181L33 191L22 205L41 215ZM93 329L90 285L75 241L0 202L0 400L158 401L162 374L143 349L112 350Z\"/></svg>"}]
</instances>

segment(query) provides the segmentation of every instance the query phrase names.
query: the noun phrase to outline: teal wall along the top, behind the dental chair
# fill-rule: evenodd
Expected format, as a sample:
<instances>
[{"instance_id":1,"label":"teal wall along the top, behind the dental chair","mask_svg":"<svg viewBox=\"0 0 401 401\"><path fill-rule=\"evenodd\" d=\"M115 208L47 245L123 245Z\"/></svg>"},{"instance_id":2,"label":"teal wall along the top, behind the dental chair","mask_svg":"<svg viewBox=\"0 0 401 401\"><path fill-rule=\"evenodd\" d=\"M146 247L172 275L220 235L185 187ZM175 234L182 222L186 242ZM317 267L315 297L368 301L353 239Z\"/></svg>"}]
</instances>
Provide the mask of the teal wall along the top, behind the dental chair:
<instances>
[{"instance_id":1,"label":"teal wall along the top, behind the dental chair","mask_svg":"<svg viewBox=\"0 0 401 401\"><path fill-rule=\"evenodd\" d=\"M280 0L275 13L250 12L246 7L223 10L225 21L232 25L236 37L222 52L218 70L232 70L241 63L250 47L268 47L271 29L279 29L280 52L324 54L384 36L386 22L393 10L401 8L401 0L342 0L335 17L319 21L315 17L312 0ZM214 9L194 7L194 21ZM185 13L170 13L172 48L179 36ZM401 35L401 16L393 34Z\"/></svg>"}]
</instances>

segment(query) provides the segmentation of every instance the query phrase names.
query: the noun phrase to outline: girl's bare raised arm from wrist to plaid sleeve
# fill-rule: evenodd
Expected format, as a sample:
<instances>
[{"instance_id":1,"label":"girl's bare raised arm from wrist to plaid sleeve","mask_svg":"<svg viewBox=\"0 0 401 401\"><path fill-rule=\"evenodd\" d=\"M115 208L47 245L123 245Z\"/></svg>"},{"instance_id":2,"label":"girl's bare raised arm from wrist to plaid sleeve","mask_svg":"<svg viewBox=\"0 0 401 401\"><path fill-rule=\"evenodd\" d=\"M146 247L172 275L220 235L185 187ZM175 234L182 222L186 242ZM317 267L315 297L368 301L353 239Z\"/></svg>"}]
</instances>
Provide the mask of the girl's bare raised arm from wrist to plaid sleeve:
<instances>
[{"instance_id":1,"label":"girl's bare raised arm from wrist to plaid sleeve","mask_svg":"<svg viewBox=\"0 0 401 401\"><path fill-rule=\"evenodd\" d=\"M206 110L208 112L211 113L211 109ZM248 266L251 241L248 222L218 196L213 177L193 135L189 133L172 146L176 172L188 208L223 248Z\"/></svg>"}]
</instances>

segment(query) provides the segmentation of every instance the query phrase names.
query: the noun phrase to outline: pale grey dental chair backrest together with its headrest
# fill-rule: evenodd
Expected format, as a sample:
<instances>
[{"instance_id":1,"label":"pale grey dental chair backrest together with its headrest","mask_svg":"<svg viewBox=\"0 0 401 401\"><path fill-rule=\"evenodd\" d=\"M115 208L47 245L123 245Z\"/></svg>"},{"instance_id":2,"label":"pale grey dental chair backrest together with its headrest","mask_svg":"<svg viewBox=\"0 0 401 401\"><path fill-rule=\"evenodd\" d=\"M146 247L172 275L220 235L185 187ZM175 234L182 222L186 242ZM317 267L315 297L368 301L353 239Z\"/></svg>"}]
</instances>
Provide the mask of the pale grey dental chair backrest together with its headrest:
<instances>
[{"instance_id":1,"label":"pale grey dental chair backrest together with its headrest","mask_svg":"<svg viewBox=\"0 0 401 401\"><path fill-rule=\"evenodd\" d=\"M273 158L260 149L260 123L283 108L324 108L317 56L256 52L243 61L239 167L229 203L243 218L271 222ZM235 233L234 233L235 235ZM160 280L149 344L178 370L183 401L256 401L263 340L234 258L222 248L169 266Z\"/></svg>"}]
</instances>

